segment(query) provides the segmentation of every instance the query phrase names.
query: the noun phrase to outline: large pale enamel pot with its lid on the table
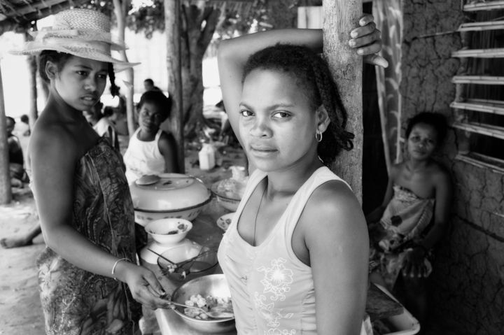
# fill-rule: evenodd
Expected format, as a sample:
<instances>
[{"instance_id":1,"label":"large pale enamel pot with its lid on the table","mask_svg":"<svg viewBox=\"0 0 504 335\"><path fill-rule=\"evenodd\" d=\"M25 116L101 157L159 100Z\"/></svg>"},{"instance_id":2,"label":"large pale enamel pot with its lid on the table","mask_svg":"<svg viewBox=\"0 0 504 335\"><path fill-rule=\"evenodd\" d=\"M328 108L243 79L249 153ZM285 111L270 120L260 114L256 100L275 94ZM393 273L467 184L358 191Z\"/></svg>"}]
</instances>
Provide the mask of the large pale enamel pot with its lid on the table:
<instances>
[{"instance_id":1,"label":"large pale enamel pot with its lid on the table","mask_svg":"<svg viewBox=\"0 0 504 335\"><path fill-rule=\"evenodd\" d=\"M201 180L181 173L144 176L130 184L135 222L181 218L192 221L211 200Z\"/></svg>"}]
</instances>

